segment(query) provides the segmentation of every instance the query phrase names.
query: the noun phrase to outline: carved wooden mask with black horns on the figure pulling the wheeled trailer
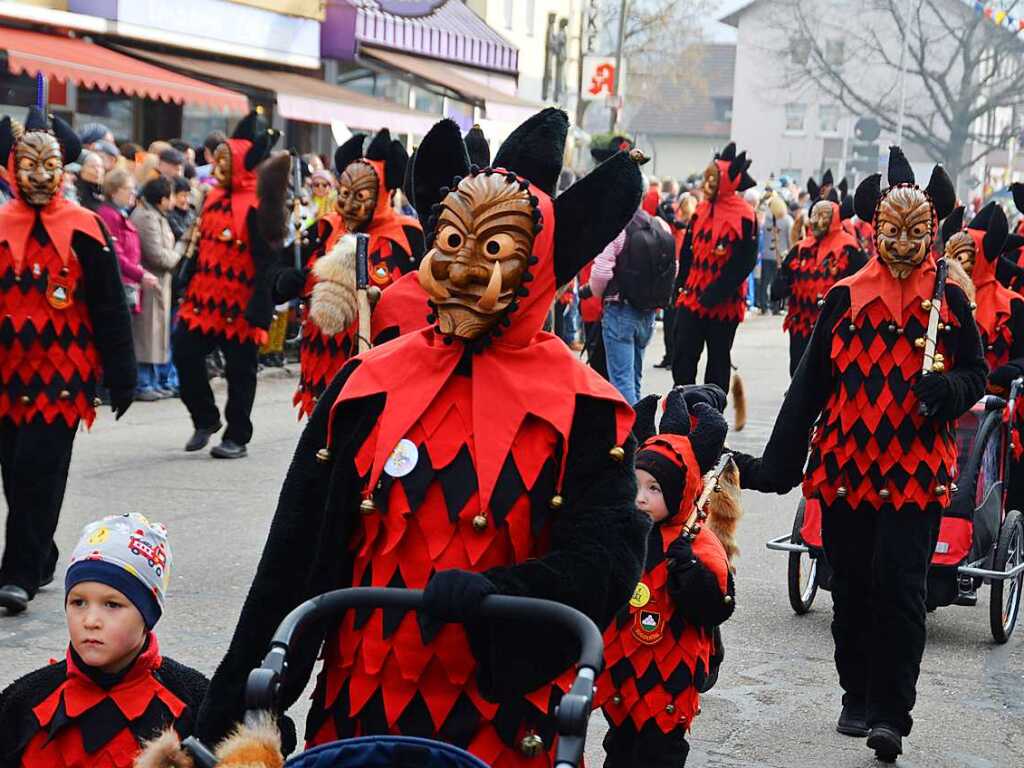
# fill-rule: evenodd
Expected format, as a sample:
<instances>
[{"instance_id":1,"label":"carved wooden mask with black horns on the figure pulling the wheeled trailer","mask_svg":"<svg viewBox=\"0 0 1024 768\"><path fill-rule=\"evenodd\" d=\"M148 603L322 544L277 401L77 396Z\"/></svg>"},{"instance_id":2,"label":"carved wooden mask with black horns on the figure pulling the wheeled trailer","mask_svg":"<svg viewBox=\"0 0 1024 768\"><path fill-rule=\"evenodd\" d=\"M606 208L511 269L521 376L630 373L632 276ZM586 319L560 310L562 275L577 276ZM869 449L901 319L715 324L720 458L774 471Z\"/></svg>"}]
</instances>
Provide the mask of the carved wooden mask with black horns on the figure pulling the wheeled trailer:
<instances>
[{"instance_id":1,"label":"carved wooden mask with black horns on the figure pulling the wheeled trailer","mask_svg":"<svg viewBox=\"0 0 1024 768\"><path fill-rule=\"evenodd\" d=\"M879 258L894 278L904 280L928 256L938 222L956 204L956 193L941 166L935 166L927 187L918 186L898 146L889 148L889 188L882 191L881 183L879 173L861 181L854 207L861 220L874 225Z\"/></svg>"}]
</instances>

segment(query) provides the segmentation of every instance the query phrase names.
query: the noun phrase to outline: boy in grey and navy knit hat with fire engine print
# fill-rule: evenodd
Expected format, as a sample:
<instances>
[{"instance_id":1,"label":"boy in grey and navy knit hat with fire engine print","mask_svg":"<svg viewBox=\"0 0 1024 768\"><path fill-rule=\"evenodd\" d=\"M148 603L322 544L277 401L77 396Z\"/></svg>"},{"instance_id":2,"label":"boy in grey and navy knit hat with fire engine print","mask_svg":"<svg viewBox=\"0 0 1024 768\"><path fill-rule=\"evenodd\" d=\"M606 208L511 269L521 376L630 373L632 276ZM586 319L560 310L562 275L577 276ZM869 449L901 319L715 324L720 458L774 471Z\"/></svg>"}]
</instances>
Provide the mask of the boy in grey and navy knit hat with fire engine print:
<instances>
[{"instance_id":1,"label":"boy in grey and navy knit hat with fire engine print","mask_svg":"<svg viewBox=\"0 0 1024 768\"><path fill-rule=\"evenodd\" d=\"M65 575L67 657L0 693L0 765L128 768L164 728L190 735L208 681L161 656L153 631L171 563L167 529L140 514L85 526Z\"/></svg>"}]
</instances>

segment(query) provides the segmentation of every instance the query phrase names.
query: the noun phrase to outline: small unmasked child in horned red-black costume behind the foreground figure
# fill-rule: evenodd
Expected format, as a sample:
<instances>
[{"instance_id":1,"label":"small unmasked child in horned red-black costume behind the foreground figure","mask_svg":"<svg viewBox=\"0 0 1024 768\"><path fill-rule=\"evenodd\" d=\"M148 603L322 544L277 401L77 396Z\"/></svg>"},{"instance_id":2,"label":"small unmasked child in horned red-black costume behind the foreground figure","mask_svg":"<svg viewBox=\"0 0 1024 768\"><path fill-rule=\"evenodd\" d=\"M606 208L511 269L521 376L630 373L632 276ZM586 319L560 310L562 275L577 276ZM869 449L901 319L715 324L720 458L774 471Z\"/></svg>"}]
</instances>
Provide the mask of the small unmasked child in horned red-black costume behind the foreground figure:
<instances>
[{"instance_id":1,"label":"small unmasked child in horned red-black costume behind the foreground figure","mask_svg":"<svg viewBox=\"0 0 1024 768\"><path fill-rule=\"evenodd\" d=\"M717 675L713 657L720 660L715 629L734 608L726 549L712 525L687 525L722 455L725 393L715 385L674 389L658 434L656 404L655 396L636 407L637 507L654 525L641 581L604 633L594 699L608 721L604 768L686 763L686 732ZM717 478L708 481L718 488Z\"/></svg>"}]
</instances>

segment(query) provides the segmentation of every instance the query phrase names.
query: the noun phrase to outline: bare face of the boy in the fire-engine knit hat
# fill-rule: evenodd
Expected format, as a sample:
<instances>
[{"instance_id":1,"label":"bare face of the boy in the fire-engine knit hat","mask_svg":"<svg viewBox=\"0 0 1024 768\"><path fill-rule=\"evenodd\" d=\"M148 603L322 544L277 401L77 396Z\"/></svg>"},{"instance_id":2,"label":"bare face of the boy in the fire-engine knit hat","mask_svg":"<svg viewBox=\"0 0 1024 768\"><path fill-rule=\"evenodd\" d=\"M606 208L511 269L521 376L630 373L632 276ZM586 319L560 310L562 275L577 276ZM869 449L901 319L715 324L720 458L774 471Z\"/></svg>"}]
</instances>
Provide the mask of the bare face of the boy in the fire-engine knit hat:
<instances>
[{"instance_id":1,"label":"bare face of the boy in the fire-engine knit hat","mask_svg":"<svg viewBox=\"0 0 1024 768\"><path fill-rule=\"evenodd\" d=\"M72 587L65 603L72 647L90 667L121 672L145 642L145 623L123 593L98 582Z\"/></svg>"}]
</instances>

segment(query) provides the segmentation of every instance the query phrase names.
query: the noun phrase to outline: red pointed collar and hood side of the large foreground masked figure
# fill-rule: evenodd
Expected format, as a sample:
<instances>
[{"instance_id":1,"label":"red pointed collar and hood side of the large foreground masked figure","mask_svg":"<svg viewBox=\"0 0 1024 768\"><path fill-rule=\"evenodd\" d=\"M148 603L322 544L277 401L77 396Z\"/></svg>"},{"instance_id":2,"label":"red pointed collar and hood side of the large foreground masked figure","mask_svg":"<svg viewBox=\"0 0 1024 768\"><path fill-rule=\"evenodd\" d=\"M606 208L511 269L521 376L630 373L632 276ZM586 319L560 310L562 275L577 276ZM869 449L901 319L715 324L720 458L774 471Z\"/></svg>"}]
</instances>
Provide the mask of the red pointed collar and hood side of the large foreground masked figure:
<instances>
[{"instance_id":1,"label":"red pointed collar and hood side of the large foreground masked figure","mask_svg":"<svg viewBox=\"0 0 1024 768\"><path fill-rule=\"evenodd\" d=\"M498 476L520 426L532 415L562 437L564 474L568 438L575 412L575 396L611 402L615 408L616 444L626 440L633 426L633 410L618 391L584 366L557 336L541 330L555 295L555 217L551 198L530 185L543 217L534 241L529 293L520 298L510 315L512 325L494 343L472 355L472 434L480 507L490 502ZM445 344L433 328L400 337L359 355L334 403L334 410L360 397L383 393L386 397L377 430L377 444L369 487L374 487L398 440L406 436L455 374L466 351L456 341ZM395 376L400 371L401 376ZM332 413L331 424L334 424ZM328 441L330 444L331 436Z\"/></svg>"}]
</instances>

